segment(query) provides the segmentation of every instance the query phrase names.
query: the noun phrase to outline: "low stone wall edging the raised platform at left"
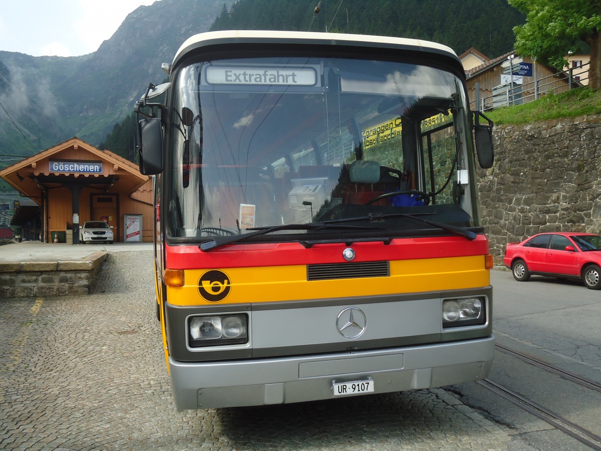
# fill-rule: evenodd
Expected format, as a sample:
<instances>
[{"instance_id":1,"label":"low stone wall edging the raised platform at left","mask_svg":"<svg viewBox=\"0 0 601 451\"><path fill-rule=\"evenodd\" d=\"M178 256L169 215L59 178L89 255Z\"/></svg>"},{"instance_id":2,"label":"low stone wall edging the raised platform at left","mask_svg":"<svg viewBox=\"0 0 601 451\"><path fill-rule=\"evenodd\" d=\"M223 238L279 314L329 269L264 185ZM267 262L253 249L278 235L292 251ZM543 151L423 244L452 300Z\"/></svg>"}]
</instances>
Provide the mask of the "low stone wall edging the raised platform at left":
<instances>
[{"instance_id":1,"label":"low stone wall edging the raised platform at left","mask_svg":"<svg viewBox=\"0 0 601 451\"><path fill-rule=\"evenodd\" d=\"M88 295L108 253L84 261L0 263L0 298Z\"/></svg>"}]
</instances>

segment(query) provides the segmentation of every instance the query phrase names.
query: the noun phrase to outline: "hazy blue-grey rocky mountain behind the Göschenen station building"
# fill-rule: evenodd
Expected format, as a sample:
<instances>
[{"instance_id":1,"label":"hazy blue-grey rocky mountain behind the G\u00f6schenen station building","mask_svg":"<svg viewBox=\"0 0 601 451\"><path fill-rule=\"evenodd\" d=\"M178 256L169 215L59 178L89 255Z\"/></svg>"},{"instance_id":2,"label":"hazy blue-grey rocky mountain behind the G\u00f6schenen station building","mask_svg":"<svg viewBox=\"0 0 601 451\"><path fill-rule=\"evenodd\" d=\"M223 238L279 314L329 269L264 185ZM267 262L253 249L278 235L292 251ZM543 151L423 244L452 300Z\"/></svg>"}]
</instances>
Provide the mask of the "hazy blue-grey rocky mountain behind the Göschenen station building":
<instances>
[{"instance_id":1,"label":"hazy blue-grey rocky mountain behind the G\u00f6schenen station building","mask_svg":"<svg viewBox=\"0 0 601 451\"><path fill-rule=\"evenodd\" d=\"M29 156L73 136L97 145L160 82L191 35L231 0L161 0L132 11L100 48L80 57L0 51L0 154ZM10 164L10 163L9 163Z\"/></svg>"}]
</instances>

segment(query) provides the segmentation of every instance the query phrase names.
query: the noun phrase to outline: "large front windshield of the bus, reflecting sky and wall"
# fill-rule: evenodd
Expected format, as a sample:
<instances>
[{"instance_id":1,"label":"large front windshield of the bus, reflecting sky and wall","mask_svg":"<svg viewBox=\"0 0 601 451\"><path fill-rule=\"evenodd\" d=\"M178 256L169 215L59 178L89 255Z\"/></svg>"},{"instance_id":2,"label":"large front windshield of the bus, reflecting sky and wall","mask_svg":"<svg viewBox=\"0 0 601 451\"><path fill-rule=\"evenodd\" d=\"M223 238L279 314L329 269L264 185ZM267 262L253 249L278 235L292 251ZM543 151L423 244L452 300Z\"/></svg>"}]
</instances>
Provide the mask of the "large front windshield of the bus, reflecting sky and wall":
<instances>
[{"instance_id":1,"label":"large front windshield of the bus, reflecting sky and wall","mask_svg":"<svg viewBox=\"0 0 601 451\"><path fill-rule=\"evenodd\" d=\"M466 108L460 79L426 64L192 61L169 99L167 237L447 233L413 216L479 226ZM373 227L277 227L365 218Z\"/></svg>"}]
</instances>

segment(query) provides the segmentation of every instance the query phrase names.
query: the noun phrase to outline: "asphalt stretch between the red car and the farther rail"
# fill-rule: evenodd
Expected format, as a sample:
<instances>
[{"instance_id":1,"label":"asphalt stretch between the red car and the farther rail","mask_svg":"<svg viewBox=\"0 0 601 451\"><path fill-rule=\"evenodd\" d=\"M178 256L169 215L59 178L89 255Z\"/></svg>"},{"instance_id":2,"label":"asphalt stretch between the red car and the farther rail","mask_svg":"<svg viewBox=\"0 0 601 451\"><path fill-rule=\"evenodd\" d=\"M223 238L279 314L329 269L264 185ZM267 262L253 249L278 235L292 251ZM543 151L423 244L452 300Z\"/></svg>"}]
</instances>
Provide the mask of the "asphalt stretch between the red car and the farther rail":
<instances>
[{"instance_id":1,"label":"asphalt stretch between the red car and the farther rail","mask_svg":"<svg viewBox=\"0 0 601 451\"><path fill-rule=\"evenodd\" d=\"M492 284L497 343L601 382L601 291L551 277L517 282L509 271L493 271Z\"/></svg>"}]
</instances>

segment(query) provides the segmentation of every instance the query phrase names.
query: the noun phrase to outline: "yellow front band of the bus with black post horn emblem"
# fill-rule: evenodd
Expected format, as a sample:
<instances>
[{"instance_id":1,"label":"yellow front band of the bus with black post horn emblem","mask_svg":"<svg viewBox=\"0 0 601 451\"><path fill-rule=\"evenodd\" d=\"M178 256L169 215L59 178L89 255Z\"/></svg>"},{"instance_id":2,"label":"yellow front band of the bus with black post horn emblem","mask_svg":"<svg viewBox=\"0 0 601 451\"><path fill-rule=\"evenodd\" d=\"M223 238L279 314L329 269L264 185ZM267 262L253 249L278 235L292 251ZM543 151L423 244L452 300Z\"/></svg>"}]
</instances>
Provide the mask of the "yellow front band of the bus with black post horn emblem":
<instances>
[{"instance_id":1,"label":"yellow front band of the bus with black post horn emblem","mask_svg":"<svg viewBox=\"0 0 601 451\"><path fill-rule=\"evenodd\" d=\"M490 284L483 256L390 262L388 277L307 280L306 265L188 269L175 305L297 301L468 289Z\"/></svg>"}]
</instances>

